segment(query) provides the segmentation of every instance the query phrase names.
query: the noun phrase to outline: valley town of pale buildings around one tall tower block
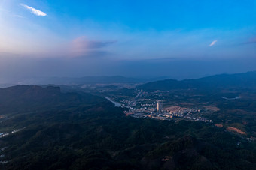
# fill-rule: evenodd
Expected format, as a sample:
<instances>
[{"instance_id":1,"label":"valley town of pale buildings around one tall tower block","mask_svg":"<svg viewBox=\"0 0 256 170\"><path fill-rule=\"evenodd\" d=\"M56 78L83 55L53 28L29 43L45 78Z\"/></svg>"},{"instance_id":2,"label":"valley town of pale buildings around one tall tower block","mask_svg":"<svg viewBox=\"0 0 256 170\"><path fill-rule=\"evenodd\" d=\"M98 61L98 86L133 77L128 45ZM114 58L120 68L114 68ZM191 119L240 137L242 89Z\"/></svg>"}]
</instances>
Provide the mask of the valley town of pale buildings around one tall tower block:
<instances>
[{"instance_id":1,"label":"valley town of pale buildings around one tall tower block","mask_svg":"<svg viewBox=\"0 0 256 170\"><path fill-rule=\"evenodd\" d=\"M184 108L180 106L170 106L163 108L163 100L155 100L154 96L159 94L154 92L148 94L142 90L139 90L132 100L123 99L120 100L120 106L128 108L129 111L125 111L126 116L130 115L134 118L155 118L159 120L173 120L173 119L187 119L190 121L204 121L212 122L203 118L200 114L200 109L195 108ZM153 95L151 97L151 95ZM148 98L151 97L151 98ZM108 99L108 97L106 97ZM109 99L108 99L109 100ZM112 103L114 101L110 100Z\"/></svg>"}]
</instances>

